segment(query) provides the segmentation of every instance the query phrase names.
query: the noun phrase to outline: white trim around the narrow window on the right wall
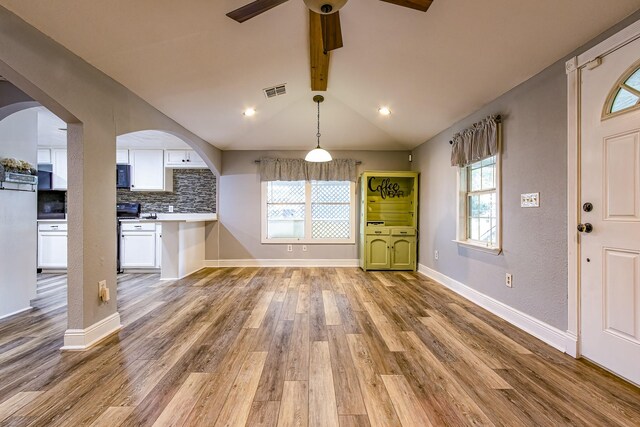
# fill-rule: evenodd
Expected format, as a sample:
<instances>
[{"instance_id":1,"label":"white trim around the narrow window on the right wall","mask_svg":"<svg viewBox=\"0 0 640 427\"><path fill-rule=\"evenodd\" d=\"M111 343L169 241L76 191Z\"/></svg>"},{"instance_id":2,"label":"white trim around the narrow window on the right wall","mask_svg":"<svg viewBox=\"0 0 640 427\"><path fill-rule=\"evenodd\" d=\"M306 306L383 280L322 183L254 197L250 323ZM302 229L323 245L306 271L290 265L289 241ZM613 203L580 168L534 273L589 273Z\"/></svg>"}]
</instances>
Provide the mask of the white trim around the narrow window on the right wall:
<instances>
[{"instance_id":1,"label":"white trim around the narrow window on the right wall","mask_svg":"<svg viewBox=\"0 0 640 427\"><path fill-rule=\"evenodd\" d=\"M498 132L500 135L500 132ZM496 245L486 245L467 238L467 167L459 167L456 179L458 191L456 211L456 238L453 240L459 246L465 246L494 255L502 253L502 155L500 150L500 136L498 136L498 153L496 154Z\"/></svg>"}]
</instances>

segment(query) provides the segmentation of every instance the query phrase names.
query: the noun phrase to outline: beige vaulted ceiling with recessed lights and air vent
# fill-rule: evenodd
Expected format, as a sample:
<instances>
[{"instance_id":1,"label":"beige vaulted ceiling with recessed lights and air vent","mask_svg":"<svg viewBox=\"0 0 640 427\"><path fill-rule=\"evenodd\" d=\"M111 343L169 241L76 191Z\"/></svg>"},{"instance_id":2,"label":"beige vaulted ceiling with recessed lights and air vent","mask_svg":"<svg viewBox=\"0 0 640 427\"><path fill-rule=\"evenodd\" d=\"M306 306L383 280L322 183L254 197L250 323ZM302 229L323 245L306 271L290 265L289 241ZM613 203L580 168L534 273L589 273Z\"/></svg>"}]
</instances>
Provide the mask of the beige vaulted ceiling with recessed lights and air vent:
<instances>
[{"instance_id":1,"label":"beige vaulted ceiling with recessed lights and air vent","mask_svg":"<svg viewBox=\"0 0 640 427\"><path fill-rule=\"evenodd\" d=\"M0 0L31 25L221 149L314 145L308 14L290 0L239 24L250 0ZM406 149L640 8L640 0L377 0L340 10L321 106L328 149ZM262 89L286 83L287 94ZM377 109L391 108L382 117ZM257 114L242 111L254 107Z\"/></svg>"}]
</instances>

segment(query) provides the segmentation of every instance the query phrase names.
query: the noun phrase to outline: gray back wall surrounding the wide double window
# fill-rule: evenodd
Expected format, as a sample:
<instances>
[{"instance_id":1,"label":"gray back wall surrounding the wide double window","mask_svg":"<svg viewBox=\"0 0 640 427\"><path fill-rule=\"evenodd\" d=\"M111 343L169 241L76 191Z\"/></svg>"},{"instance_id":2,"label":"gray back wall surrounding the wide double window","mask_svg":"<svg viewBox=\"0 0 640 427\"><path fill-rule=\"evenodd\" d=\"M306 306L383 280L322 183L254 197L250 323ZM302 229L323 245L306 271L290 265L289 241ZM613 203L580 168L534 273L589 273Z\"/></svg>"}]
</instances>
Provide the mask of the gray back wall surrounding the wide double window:
<instances>
[{"instance_id":1,"label":"gray back wall surrounding the wide double window","mask_svg":"<svg viewBox=\"0 0 640 427\"><path fill-rule=\"evenodd\" d=\"M409 170L408 151L332 151L334 158L362 161L358 172L365 170ZM215 240L219 232L220 259L356 259L357 246L262 244L260 239L261 187L258 165L261 157L304 158L304 151L224 151L219 185L219 230L208 228L207 259L216 259ZM356 204L357 205L357 204ZM356 212L357 214L357 212Z\"/></svg>"}]
</instances>

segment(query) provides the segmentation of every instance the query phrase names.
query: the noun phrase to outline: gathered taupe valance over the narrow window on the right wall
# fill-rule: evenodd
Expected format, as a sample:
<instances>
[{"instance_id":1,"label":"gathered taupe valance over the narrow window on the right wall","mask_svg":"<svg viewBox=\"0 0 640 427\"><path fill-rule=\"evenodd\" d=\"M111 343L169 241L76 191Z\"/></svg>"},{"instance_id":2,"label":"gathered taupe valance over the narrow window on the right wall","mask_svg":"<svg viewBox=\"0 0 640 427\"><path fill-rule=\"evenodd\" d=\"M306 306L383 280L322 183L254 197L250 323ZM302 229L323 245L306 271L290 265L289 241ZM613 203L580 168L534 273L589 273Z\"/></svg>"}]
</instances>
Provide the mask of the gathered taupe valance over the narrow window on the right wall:
<instances>
[{"instance_id":1,"label":"gathered taupe valance over the narrow window on the right wall","mask_svg":"<svg viewBox=\"0 0 640 427\"><path fill-rule=\"evenodd\" d=\"M464 167L498 153L500 116L489 116L458 132L451 141L451 166Z\"/></svg>"}]
</instances>

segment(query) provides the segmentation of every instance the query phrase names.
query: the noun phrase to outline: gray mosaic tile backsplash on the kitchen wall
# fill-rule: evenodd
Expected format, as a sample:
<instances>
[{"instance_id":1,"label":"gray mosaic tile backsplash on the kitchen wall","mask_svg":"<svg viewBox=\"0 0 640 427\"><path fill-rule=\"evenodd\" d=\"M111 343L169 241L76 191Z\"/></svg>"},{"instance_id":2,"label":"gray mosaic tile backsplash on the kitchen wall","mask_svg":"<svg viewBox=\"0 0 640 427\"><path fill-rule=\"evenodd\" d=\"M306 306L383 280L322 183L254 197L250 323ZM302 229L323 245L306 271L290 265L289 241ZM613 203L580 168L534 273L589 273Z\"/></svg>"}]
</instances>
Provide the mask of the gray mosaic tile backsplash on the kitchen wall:
<instances>
[{"instance_id":1,"label":"gray mosaic tile backsplash on the kitchen wall","mask_svg":"<svg viewBox=\"0 0 640 427\"><path fill-rule=\"evenodd\" d=\"M142 213L213 213L216 177L209 169L174 169L173 192L130 191L119 188L118 203L140 203Z\"/></svg>"}]
</instances>

